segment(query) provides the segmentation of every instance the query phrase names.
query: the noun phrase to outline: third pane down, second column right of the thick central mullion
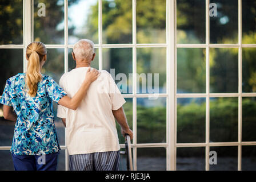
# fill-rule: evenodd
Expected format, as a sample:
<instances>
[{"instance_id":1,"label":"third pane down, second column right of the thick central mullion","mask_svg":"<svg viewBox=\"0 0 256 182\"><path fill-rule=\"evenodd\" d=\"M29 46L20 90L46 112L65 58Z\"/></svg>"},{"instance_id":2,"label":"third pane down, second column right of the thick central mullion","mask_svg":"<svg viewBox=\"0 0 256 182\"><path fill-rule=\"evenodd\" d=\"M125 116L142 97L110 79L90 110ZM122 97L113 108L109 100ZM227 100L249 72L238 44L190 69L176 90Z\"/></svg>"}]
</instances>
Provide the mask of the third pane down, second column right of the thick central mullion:
<instances>
[{"instance_id":1,"label":"third pane down, second column right of the thick central mullion","mask_svg":"<svg viewBox=\"0 0 256 182\"><path fill-rule=\"evenodd\" d=\"M210 142L238 141L238 98L210 98Z\"/></svg>"}]
</instances>

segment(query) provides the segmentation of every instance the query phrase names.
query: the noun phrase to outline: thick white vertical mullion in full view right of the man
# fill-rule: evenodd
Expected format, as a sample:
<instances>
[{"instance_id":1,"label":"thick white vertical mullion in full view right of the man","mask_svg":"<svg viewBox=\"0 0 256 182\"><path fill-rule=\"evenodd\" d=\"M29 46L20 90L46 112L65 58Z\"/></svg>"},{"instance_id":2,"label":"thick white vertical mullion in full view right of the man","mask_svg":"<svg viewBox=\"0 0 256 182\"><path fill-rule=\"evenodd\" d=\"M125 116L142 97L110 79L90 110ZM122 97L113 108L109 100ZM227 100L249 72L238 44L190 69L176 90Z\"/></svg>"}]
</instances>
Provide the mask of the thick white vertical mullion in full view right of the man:
<instances>
[{"instance_id":1,"label":"thick white vertical mullion in full view right of the man","mask_svg":"<svg viewBox=\"0 0 256 182\"><path fill-rule=\"evenodd\" d=\"M175 0L169 0L166 3L168 9L168 16L167 16L167 94L168 98L166 100L166 109L167 110L167 160L169 160L167 169L174 171L176 169L176 155L175 155L175 138L176 138L176 129L175 129L175 81L176 81L176 68L175 68ZM171 84L173 83L173 84Z\"/></svg>"}]
</instances>

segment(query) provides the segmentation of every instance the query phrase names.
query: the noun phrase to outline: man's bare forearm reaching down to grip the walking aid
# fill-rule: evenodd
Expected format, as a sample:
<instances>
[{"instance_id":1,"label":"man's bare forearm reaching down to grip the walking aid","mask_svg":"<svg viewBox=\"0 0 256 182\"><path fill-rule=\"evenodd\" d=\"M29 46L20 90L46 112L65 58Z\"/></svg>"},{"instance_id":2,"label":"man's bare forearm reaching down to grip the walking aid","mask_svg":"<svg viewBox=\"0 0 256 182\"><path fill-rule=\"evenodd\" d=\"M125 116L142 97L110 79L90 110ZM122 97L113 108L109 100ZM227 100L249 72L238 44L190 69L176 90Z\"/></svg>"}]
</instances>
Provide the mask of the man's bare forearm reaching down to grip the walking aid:
<instances>
[{"instance_id":1,"label":"man's bare forearm reaching down to grip the walking aid","mask_svg":"<svg viewBox=\"0 0 256 182\"><path fill-rule=\"evenodd\" d=\"M127 119L126 119L125 111L123 110L123 107L120 107L118 110L112 110L112 113L115 119L117 119L117 122L119 123L119 125L121 126L123 137L125 137L125 134L128 134L130 135L130 138L133 139L133 131L130 129L127 123Z\"/></svg>"}]
</instances>

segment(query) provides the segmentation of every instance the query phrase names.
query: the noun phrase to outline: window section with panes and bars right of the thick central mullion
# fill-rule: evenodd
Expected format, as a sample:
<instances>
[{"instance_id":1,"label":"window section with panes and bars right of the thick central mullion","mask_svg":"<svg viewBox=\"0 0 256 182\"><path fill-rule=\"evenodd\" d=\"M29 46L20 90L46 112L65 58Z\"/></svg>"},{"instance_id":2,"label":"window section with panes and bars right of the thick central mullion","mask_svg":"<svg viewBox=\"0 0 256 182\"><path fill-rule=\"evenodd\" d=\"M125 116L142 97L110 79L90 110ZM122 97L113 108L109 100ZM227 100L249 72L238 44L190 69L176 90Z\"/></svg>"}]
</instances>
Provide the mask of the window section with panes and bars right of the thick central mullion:
<instances>
[{"instance_id":1,"label":"window section with panes and bars right of the thick central mullion","mask_svg":"<svg viewBox=\"0 0 256 182\"><path fill-rule=\"evenodd\" d=\"M255 164L250 148L255 146L256 3L175 3L176 169L247 170ZM217 16L210 15L210 3ZM210 151L217 152L217 165L209 163Z\"/></svg>"}]
</instances>

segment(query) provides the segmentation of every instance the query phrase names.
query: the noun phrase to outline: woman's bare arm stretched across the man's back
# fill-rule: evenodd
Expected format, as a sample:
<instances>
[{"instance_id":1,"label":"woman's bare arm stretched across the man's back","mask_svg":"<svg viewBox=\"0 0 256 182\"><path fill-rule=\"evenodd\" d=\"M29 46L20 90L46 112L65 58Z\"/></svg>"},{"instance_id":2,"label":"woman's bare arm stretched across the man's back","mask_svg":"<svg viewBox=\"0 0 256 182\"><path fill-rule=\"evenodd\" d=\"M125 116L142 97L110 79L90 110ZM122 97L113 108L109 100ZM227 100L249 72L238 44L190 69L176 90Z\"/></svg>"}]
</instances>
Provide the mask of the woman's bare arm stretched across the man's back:
<instances>
[{"instance_id":1,"label":"woman's bare arm stretched across the man's back","mask_svg":"<svg viewBox=\"0 0 256 182\"><path fill-rule=\"evenodd\" d=\"M82 86L77 91L75 96L73 98L70 98L69 96L64 96L61 98L61 100L59 100L58 104L65 106L69 109L77 110L77 107L80 105L83 97L85 97L85 94L89 89L91 82L94 82L98 78L98 75L99 71L97 69L93 69L92 71L90 71L90 68L88 68L85 81L83 81Z\"/></svg>"}]
</instances>

